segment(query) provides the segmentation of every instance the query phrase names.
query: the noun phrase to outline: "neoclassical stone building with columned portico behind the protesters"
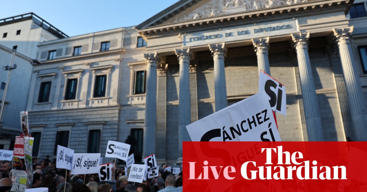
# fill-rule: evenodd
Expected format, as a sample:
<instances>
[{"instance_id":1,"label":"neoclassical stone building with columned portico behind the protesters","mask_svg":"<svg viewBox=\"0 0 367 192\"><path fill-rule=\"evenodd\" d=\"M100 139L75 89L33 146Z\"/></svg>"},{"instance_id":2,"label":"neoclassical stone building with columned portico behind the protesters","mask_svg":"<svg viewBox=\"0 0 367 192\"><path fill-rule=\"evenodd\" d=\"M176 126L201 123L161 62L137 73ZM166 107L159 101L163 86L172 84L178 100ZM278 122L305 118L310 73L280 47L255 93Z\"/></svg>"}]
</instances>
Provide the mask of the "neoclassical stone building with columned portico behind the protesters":
<instances>
[{"instance_id":1,"label":"neoclassical stone building with columned portico behind the protesters","mask_svg":"<svg viewBox=\"0 0 367 192\"><path fill-rule=\"evenodd\" d=\"M134 27L41 43L30 126L42 157L56 144L103 156L134 135L137 153L171 164L185 126L256 94L262 69L286 86L282 140L367 141L366 45L364 1L181 0Z\"/></svg>"}]
</instances>

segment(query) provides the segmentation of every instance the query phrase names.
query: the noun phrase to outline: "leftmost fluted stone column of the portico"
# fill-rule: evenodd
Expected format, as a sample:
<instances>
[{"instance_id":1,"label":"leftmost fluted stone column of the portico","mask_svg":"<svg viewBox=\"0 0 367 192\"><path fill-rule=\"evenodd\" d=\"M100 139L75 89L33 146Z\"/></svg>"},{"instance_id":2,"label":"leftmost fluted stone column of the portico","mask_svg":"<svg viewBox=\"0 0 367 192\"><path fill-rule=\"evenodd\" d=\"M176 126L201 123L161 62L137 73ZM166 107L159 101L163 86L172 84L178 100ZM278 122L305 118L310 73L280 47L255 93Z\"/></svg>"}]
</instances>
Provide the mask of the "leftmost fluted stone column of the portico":
<instances>
[{"instance_id":1,"label":"leftmost fluted stone column of the portico","mask_svg":"<svg viewBox=\"0 0 367 192\"><path fill-rule=\"evenodd\" d=\"M157 129L157 65L160 61L158 53L143 54L146 63L146 98L143 133L143 157L156 151Z\"/></svg>"}]
</instances>

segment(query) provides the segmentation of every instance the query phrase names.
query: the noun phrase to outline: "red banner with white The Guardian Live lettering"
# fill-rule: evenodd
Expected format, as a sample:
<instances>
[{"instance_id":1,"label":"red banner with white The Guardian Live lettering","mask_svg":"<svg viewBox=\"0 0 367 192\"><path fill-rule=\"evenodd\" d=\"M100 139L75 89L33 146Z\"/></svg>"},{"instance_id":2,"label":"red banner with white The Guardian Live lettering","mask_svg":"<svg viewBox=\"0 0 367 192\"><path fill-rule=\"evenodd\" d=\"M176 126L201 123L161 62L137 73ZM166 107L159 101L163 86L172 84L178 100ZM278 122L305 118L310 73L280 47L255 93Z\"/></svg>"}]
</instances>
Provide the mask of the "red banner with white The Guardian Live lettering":
<instances>
[{"instance_id":1,"label":"red banner with white The Guardian Live lettering","mask_svg":"<svg viewBox=\"0 0 367 192\"><path fill-rule=\"evenodd\" d=\"M183 191L365 192L367 142L183 142Z\"/></svg>"}]
</instances>

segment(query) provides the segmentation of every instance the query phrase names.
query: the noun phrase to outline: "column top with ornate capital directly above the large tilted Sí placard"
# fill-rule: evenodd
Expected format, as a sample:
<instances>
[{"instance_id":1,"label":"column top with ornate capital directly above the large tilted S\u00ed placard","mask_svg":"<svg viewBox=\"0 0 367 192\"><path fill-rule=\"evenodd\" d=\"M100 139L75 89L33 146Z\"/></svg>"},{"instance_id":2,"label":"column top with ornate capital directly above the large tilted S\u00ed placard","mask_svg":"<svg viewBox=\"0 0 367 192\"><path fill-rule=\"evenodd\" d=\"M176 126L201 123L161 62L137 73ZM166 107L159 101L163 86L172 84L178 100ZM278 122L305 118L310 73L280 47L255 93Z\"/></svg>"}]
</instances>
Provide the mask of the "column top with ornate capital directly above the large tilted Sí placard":
<instances>
[{"instance_id":1,"label":"column top with ornate capital directly above the large tilted S\u00ed placard","mask_svg":"<svg viewBox=\"0 0 367 192\"><path fill-rule=\"evenodd\" d=\"M264 71L268 75L270 75L270 64L269 64L269 38L259 38L259 39L251 39L252 45L254 46L254 50L257 56L257 67L260 70Z\"/></svg>"}]
</instances>

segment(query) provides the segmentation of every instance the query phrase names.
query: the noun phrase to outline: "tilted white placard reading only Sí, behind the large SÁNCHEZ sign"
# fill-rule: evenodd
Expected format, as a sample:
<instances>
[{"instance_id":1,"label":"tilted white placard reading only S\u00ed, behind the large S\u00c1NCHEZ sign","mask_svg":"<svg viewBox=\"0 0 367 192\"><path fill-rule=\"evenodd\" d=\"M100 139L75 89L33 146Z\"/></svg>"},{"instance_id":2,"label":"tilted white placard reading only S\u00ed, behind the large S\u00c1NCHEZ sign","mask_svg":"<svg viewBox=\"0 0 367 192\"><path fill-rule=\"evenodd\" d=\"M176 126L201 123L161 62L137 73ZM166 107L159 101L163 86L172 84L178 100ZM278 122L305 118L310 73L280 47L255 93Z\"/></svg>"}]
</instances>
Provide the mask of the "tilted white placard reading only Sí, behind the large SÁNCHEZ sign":
<instances>
[{"instance_id":1,"label":"tilted white placard reading only S\u00ed, behind the large S\u00c1NCHEZ sign","mask_svg":"<svg viewBox=\"0 0 367 192\"><path fill-rule=\"evenodd\" d=\"M286 86L262 70L260 70L259 75L260 92L265 92L268 95L270 107L274 111L287 116Z\"/></svg>"}]
</instances>

